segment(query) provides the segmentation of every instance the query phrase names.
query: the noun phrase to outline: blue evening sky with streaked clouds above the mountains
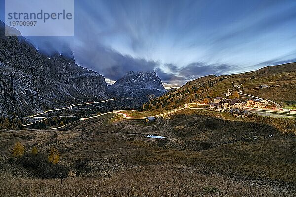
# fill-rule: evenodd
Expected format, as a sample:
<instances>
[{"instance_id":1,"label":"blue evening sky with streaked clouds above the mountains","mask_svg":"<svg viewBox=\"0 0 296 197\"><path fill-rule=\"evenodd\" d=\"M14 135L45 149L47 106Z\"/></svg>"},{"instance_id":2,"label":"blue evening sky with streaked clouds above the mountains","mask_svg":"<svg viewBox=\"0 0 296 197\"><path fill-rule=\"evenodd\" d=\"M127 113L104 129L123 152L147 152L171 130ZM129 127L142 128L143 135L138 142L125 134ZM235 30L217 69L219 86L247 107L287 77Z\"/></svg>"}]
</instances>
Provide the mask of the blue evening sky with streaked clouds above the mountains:
<instances>
[{"instance_id":1,"label":"blue evening sky with streaked clouds above the mountains","mask_svg":"<svg viewBox=\"0 0 296 197\"><path fill-rule=\"evenodd\" d=\"M3 21L3 0L0 7ZM178 87L296 62L295 0L75 0L74 14L74 36L26 38L37 48L69 47L108 83L155 71L165 87Z\"/></svg>"}]
</instances>

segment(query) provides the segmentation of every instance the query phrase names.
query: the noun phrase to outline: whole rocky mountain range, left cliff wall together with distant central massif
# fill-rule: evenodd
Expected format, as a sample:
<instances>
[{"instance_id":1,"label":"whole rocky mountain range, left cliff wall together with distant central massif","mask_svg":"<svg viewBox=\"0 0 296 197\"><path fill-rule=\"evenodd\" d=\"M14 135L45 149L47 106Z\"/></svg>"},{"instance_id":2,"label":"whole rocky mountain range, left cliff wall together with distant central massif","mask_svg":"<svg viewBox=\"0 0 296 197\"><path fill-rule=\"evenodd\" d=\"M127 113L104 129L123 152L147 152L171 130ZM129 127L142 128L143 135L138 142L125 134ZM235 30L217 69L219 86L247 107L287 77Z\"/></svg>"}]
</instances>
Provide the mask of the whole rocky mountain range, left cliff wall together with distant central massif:
<instances>
[{"instance_id":1,"label":"whole rocky mountain range, left cliff wall together with distant central massif","mask_svg":"<svg viewBox=\"0 0 296 197\"><path fill-rule=\"evenodd\" d=\"M70 104L137 97L137 105L165 89L156 73L129 72L107 88L104 76L75 63L69 48L37 50L21 33L5 36L0 21L0 114L30 115ZM120 105L120 103L119 103Z\"/></svg>"}]
</instances>

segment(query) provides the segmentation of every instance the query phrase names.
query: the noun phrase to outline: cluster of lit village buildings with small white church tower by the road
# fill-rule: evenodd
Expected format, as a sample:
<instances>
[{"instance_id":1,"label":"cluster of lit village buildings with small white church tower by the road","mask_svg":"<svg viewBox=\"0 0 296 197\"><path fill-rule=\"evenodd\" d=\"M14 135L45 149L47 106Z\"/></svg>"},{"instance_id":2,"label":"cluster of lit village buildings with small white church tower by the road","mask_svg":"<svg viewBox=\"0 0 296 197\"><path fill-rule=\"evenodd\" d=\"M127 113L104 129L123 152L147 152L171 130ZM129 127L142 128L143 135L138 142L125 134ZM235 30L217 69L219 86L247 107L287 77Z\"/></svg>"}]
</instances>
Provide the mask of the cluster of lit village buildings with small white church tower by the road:
<instances>
[{"instance_id":1,"label":"cluster of lit village buildings with small white church tower by the road","mask_svg":"<svg viewBox=\"0 0 296 197\"><path fill-rule=\"evenodd\" d=\"M231 95L229 89L226 93L226 97L229 98ZM216 97L214 98L214 102L210 103L210 106L208 107L209 110L213 111L229 111L234 116L237 117L247 117L251 114L249 110L244 110L243 107L250 107L250 108L264 108L268 101L265 99L246 99L246 100L240 100L240 99L227 99L223 97Z\"/></svg>"}]
</instances>

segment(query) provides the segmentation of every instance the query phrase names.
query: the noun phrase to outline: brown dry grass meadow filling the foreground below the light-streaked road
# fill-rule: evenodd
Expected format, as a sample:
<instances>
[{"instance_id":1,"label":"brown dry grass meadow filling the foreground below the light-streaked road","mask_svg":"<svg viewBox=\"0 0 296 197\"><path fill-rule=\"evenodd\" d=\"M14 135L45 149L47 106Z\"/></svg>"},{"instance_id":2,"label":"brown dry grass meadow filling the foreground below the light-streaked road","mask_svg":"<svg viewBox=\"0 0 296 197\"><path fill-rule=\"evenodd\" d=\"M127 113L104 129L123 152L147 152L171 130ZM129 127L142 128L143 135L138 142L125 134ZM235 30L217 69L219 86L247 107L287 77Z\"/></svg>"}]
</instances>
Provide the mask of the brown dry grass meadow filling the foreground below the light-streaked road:
<instances>
[{"instance_id":1,"label":"brown dry grass meadow filling the foreground below the light-streaked road","mask_svg":"<svg viewBox=\"0 0 296 197\"><path fill-rule=\"evenodd\" d=\"M60 130L2 130L0 192L4 196L276 197L280 191L292 197L296 138L285 134L295 131L290 128L295 122L289 121L187 109L153 124L107 114ZM165 139L151 139L148 134ZM36 170L9 159L17 141L26 152L33 146L44 154L52 147L59 150L59 164L70 171L62 187L60 179L40 180ZM74 163L79 158L88 158L89 163L78 177Z\"/></svg>"}]
</instances>

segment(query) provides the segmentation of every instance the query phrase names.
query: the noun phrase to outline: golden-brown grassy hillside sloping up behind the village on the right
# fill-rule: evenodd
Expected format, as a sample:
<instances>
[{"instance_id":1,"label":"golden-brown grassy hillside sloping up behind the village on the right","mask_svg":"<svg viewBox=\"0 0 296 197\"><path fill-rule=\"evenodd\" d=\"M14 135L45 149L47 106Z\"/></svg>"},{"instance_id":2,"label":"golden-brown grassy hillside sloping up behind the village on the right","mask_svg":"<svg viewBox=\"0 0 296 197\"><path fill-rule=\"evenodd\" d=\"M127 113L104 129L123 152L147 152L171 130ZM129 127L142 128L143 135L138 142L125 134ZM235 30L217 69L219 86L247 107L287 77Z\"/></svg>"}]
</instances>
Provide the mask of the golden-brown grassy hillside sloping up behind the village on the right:
<instances>
[{"instance_id":1,"label":"golden-brown grassy hillside sloping up behind the village on the right","mask_svg":"<svg viewBox=\"0 0 296 197\"><path fill-rule=\"evenodd\" d=\"M241 89L234 87L232 82L242 84ZM260 85L272 87L259 89ZM205 98L211 102L213 97L225 95L228 89L232 93L243 90L244 93L293 105L296 103L296 63L268 66L241 74L201 77L152 99L143 105L143 109L169 110L184 103L203 102Z\"/></svg>"}]
</instances>

